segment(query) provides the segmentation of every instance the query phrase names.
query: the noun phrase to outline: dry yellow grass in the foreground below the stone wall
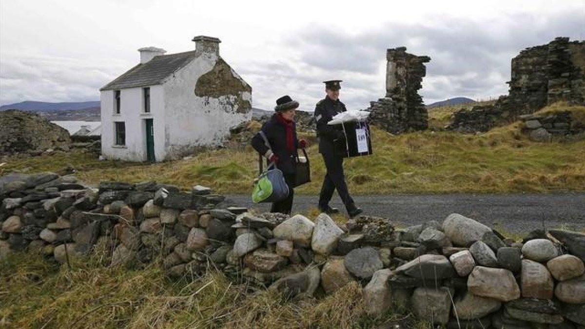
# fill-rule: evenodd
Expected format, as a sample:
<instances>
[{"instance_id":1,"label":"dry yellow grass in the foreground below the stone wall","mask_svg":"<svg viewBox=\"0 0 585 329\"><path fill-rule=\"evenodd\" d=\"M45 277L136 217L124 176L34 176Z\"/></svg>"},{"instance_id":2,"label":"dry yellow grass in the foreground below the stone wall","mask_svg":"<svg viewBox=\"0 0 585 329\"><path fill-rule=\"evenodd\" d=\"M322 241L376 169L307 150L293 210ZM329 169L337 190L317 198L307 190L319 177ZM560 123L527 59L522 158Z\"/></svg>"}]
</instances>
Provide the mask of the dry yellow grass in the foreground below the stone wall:
<instances>
[{"instance_id":1,"label":"dry yellow grass in the foreground below the stone wall","mask_svg":"<svg viewBox=\"0 0 585 329\"><path fill-rule=\"evenodd\" d=\"M414 321L394 310L367 316L357 282L329 296L286 300L271 290L250 292L212 269L173 281L157 263L131 270L96 259L75 260L71 269L38 255L0 261L0 327L349 329Z\"/></svg>"}]
</instances>

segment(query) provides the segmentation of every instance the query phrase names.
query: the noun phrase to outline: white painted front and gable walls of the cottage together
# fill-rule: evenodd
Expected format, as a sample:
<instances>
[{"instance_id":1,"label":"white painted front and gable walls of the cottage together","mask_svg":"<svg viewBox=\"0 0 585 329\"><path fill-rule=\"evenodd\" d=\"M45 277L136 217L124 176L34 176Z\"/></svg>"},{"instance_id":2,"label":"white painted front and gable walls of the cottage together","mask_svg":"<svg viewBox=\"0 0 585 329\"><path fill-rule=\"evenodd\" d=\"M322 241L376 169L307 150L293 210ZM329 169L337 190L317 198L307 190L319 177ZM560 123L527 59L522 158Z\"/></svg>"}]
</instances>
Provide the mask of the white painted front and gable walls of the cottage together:
<instances>
[{"instance_id":1,"label":"white painted front and gable walls of the cottage together","mask_svg":"<svg viewBox=\"0 0 585 329\"><path fill-rule=\"evenodd\" d=\"M102 155L106 159L146 161L144 119L153 118L154 156L157 161L178 159L197 146L218 146L229 136L229 128L252 119L252 110L238 113L236 97L198 97L195 85L212 70L218 56L202 54L167 78L150 86L150 114L143 112L142 87L121 90L121 111L114 114L114 92L101 92ZM232 70L234 78L242 80ZM243 80L242 80L243 81ZM241 97L252 104L252 94ZM125 122L126 145L117 146L114 122Z\"/></svg>"}]
</instances>

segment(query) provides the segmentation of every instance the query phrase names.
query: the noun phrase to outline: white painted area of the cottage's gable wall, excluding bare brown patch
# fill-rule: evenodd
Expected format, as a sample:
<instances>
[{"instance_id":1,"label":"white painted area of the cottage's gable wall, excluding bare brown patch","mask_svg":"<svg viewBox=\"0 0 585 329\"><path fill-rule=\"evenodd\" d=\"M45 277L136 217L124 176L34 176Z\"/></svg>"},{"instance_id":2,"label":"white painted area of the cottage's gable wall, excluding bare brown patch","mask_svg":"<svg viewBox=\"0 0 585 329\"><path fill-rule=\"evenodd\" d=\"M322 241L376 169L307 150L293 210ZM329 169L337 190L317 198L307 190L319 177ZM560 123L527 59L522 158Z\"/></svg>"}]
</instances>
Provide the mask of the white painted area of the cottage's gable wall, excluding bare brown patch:
<instances>
[{"instance_id":1,"label":"white painted area of the cottage's gable wall, excluding bare brown patch","mask_svg":"<svg viewBox=\"0 0 585 329\"><path fill-rule=\"evenodd\" d=\"M229 128L252 119L252 111L236 112L236 97L198 97L195 85L203 74L212 70L218 56L204 54L174 74L164 83L167 159L176 159L196 146L217 146L229 136ZM241 78L233 72L236 78ZM252 94L242 97L252 104Z\"/></svg>"}]
</instances>

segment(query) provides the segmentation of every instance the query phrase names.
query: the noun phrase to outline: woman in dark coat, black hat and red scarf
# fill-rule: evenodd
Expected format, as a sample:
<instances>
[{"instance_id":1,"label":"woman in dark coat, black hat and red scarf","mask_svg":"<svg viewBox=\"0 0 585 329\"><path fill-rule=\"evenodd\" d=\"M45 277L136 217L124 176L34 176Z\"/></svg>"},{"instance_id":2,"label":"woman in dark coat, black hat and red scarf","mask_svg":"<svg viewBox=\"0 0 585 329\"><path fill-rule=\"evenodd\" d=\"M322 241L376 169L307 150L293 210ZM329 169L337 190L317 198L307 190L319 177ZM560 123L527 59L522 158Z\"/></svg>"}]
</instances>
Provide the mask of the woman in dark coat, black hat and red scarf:
<instances>
[{"instance_id":1,"label":"woman in dark coat, black hat and red scarf","mask_svg":"<svg viewBox=\"0 0 585 329\"><path fill-rule=\"evenodd\" d=\"M296 161L298 148L305 148L307 142L304 139L297 139L297 125L293 121L298 102L290 96L284 95L276 100L274 107L275 114L262 125L271 149L265 145L264 139L257 133L252 138L252 147L269 162L276 164L284 174L284 180L288 185L288 197L275 202L270 208L271 213L290 214L292 209L292 198L294 197L294 181L297 174Z\"/></svg>"}]
</instances>

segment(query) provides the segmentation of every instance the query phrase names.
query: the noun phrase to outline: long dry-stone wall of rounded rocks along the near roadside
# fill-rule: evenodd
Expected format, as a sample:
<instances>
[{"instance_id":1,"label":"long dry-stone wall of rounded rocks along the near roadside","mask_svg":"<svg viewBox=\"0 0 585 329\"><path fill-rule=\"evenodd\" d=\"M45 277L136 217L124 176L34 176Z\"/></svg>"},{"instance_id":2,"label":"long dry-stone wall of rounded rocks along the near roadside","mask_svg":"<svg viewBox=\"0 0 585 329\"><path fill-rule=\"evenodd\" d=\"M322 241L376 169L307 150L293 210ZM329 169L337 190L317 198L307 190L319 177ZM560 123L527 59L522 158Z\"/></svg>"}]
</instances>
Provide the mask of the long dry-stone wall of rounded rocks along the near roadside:
<instances>
[{"instance_id":1,"label":"long dry-stone wall of rounded rocks along the near roadside","mask_svg":"<svg viewBox=\"0 0 585 329\"><path fill-rule=\"evenodd\" d=\"M446 328L585 327L583 233L515 241L460 214L404 229L366 216L338 225L326 214L249 213L202 186L11 178L0 186L0 262L15 251L61 264L100 252L106 266L160 262L187 280L218 269L288 297L359 282L371 316L402 306Z\"/></svg>"}]
</instances>

